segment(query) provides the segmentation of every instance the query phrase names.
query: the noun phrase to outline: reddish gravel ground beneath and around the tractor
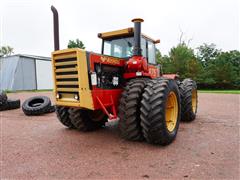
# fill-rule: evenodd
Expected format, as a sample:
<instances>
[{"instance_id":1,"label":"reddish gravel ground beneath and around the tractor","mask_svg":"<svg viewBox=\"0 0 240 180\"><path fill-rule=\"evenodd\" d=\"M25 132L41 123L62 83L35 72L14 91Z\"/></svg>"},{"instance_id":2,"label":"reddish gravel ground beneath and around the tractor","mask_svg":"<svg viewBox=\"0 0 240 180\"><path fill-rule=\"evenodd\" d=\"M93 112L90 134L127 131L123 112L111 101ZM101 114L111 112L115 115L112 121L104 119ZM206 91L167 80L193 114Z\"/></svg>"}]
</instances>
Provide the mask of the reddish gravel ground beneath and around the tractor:
<instances>
[{"instance_id":1,"label":"reddish gravel ground beneath and around the tractor","mask_svg":"<svg viewBox=\"0 0 240 180\"><path fill-rule=\"evenodd\" d=\"M51 93L15 93L24 99ZM239 179L240 95L199 94L197 119L167 147L119 138L116 125L90 133L55 113L0 112L0 179Z\"/></svg>"}]
</instances>

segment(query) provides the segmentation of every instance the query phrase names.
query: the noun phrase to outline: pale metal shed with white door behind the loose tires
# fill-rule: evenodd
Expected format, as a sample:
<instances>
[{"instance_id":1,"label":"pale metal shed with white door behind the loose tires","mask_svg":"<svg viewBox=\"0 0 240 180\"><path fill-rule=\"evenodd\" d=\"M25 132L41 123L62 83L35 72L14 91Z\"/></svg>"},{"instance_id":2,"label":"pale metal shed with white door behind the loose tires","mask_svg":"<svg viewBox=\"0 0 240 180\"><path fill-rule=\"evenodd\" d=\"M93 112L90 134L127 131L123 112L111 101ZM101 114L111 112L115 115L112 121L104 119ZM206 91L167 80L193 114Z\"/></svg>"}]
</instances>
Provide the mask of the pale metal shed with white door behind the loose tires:
<instances>
[{"instance_id":1,"label":"pale metal shed with white door behind the loose tires","mask_svg":"<svg viewBox=\"0 0 240 180\"><path fill-rule=\"evenodd\" d=\"M0 90L52 88L51 58L25 54L0 58Z\"/></svg>"}]
</instances>

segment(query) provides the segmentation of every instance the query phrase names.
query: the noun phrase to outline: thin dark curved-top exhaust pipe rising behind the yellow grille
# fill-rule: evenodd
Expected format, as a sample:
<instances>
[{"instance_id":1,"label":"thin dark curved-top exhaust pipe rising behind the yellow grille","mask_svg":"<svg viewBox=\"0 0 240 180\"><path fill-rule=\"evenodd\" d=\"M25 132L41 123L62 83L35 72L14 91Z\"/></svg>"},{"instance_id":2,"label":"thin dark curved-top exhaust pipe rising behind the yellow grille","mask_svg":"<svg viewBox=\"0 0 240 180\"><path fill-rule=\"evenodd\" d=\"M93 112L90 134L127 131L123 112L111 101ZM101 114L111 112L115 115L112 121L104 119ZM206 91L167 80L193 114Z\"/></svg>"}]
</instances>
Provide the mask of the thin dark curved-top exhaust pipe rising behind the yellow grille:
<instances>
[{"instance_id":1,"label":"thin dark curved-top exhaust pipe rising behind the yellow grille","mask_svg":"<svg viewBox=\"0 0 240 180\"><path fill-rule=\"evenodd\" d=\"M53 33L54 33L54 49L59 50L59 22L58 22L58 12L54 6L51 6L53 12Z\"/></svg>"}]
</instances>

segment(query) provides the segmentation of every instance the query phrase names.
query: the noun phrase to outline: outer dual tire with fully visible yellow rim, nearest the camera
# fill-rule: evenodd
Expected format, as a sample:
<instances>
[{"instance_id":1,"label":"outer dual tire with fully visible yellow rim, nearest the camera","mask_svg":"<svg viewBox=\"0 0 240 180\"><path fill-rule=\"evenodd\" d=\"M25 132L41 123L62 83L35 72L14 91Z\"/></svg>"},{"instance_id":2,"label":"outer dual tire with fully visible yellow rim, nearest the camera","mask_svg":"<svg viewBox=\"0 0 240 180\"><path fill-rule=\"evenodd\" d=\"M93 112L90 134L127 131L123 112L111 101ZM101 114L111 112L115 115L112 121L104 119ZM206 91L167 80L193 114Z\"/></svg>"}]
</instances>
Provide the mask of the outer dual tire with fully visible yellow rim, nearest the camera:
<instances>
[{"instance_id":1,"label":"outer dual tire with fully visible yellow rim, nearest the camera","mask_svg":"<svg viewBox=\"0 0 240 180\"><path fill-rule=\"evenodd\" d=\"M178 86L174 80L151 80L141 101L141 126L147 142L170 144L177 135L181 105Z\"/></svg>"}]
</instances>

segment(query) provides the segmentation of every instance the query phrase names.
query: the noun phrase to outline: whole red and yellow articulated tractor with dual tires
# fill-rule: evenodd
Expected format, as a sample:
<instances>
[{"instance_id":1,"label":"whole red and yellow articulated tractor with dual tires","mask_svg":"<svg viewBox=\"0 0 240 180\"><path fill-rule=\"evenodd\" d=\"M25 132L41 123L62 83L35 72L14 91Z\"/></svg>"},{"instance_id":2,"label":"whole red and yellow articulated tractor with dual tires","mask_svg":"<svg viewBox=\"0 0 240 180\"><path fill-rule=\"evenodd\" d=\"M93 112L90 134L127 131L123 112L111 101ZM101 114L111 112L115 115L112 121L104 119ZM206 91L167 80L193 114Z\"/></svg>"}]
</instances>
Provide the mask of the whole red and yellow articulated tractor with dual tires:
<instances>
[{"instance_id":1,"label":"whole red and yellow articulated tractor with dual tires","mask_svg":"<svg viewBox=\"0 0 240 180\"><path fill-rule=\"evenodd\" d=\"M58 12L54 17L52 66L59 121L80 131L101 128L119 119L124 139L167 145L179 122L193 121L197 86L191 79L162 74L154 40L133 28L99 33L102 53L79 48L59 50Z\"/></svg>"}]
</instances>

